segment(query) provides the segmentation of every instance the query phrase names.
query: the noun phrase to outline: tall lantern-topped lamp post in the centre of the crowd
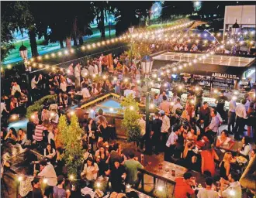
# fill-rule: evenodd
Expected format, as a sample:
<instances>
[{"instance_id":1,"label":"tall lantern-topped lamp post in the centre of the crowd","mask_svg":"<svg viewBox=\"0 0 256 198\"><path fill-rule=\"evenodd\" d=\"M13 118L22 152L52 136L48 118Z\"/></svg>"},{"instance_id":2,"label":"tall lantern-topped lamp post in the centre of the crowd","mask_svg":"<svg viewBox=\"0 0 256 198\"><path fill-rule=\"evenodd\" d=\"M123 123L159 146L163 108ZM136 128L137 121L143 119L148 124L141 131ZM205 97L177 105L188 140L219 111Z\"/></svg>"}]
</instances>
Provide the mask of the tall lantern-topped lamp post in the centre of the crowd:
<instances>
[{"instance_id":1,"label":"tall lantern-topped lamp post in the centre of the crowd","mask_svg":"<svg viewBox=\"0 0 256 198\"><path fill-rule=\"evenodd\" d=\"M152 70L153 66L153 59L146 55L140 60L142 70L144 71L145 74L145 83L147 87L147 92L146 92L146 134L149 135L149 103L150 103L150 73Z\"/></svg>"}]
</instances>

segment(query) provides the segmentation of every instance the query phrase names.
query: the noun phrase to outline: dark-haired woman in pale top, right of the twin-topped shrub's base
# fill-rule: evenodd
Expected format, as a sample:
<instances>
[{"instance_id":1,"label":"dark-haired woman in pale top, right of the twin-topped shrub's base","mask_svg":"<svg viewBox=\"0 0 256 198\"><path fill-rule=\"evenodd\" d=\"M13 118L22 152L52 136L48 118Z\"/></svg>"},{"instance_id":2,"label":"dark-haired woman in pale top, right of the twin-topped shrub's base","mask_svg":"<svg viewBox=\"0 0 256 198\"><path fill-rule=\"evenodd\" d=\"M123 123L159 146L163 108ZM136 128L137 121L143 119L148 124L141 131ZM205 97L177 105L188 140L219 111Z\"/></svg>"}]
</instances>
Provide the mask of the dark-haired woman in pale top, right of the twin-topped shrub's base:
<instances>
[{"instance_id":1,"label":"dark-haired woman in pale top, right of the twin-topped shrub's base","mask_svg":"<svg viewBox=\"0 0 256 198\"><path fill-rule=\"evenodd\" d=\"M89 157L85 163L83 171L81 172L81 178L85 179L86 186L93 186L93 183L97 179L98 172L99 166L92 158Z\"/></svg>"}]
</instances>

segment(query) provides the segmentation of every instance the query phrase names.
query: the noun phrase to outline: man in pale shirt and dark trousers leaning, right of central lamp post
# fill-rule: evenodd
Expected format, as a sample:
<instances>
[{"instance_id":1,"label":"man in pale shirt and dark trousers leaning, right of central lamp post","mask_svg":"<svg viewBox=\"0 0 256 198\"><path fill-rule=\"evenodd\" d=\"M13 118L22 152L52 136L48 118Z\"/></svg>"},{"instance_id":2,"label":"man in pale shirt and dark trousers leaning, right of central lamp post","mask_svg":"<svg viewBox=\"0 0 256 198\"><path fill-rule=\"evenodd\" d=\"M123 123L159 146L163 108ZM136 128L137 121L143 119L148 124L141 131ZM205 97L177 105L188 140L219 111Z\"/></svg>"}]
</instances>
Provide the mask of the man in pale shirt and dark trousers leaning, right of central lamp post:
<instances>
[{"instance_id":1,"label":"man in pale shirt and dark trousers leaning, right of central lamp post","mask_svg":"<svg viewBox=\"0 0 256 198\"><path fill-rule=\"evenodd\" d=\"M171 156L174 153L176 141L178 140L178 134L180 133L180 127L176 126L168 137L165 144L164 161L171 162Z\"/></svg>"}]
</instances>

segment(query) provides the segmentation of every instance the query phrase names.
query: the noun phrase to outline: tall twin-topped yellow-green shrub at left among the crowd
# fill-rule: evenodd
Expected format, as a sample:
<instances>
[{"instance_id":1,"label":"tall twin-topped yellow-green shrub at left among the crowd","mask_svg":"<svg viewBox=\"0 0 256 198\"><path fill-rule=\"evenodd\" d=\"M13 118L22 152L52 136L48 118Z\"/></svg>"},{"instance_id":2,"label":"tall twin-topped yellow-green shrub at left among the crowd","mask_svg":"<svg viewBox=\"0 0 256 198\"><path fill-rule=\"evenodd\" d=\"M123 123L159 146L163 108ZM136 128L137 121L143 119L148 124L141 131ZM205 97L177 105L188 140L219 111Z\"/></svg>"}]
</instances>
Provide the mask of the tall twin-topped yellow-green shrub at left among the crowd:
<instances>
[{"instance_id":1,"label":"tall twin-topped yellow-green shrub at left among the crowd","mask_svg":"<svg viewBox=\"0 0 256 198\"><path fill-rule=\"evenodd\" d=\"M61 134L61 141L64 143L64 161L69 175L77 176L78 169L83 161L83 153L80 144L82 130L79 126L78 117L71 116L71 124L67 125L67 118L61 115L58 130Z\"/></svg>"}]
</instances>

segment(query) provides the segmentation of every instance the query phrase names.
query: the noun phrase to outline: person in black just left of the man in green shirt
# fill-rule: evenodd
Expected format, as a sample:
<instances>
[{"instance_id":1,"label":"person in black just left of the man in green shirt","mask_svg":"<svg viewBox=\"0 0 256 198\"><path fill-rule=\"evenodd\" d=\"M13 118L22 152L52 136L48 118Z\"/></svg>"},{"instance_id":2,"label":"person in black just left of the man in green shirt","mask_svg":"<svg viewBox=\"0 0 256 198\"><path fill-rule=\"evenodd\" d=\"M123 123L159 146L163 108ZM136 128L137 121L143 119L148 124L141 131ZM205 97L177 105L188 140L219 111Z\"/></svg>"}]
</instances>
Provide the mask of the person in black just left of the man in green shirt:
<instances>
[{"instance_id":1,"label":"person in black just left of the man in green shirt","mask_svg":"<svg viewBox=\"0 0 256 198\"><path fill-rule=\"evenodd\" d=\"M114 166L110 168L110 182L112 190L121 193L125 192L126 186L123 185L123 179L126 178L126 170L124 166L120 165L119 160L114 161Z\"/></svg>"}]
</instances>

